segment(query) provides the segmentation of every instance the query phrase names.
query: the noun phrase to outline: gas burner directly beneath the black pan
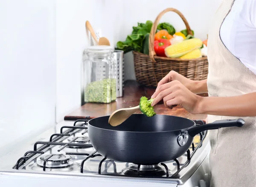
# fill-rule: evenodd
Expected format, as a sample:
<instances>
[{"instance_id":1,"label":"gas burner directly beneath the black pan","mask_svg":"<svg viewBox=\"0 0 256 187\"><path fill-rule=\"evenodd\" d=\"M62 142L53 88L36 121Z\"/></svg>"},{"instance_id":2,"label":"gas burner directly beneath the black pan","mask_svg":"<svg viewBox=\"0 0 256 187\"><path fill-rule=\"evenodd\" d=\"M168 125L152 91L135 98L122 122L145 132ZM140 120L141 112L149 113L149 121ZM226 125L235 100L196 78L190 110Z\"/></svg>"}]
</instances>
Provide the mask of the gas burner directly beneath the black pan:
<instances>
[{"instance_id":1,"label":"gas burner directly beneath the black pan","mask_svg":"<svg viewBox=\"0 0 256 187\"><path fill-rule=\"evenodd\" d=\"M124 173L125 175L138 175L138 165L131 164ZM161 167L160 164L152 165L141 165L140 166L140 176L164 176L166 175L166 170Z\"/></svg>"}]
</instances>

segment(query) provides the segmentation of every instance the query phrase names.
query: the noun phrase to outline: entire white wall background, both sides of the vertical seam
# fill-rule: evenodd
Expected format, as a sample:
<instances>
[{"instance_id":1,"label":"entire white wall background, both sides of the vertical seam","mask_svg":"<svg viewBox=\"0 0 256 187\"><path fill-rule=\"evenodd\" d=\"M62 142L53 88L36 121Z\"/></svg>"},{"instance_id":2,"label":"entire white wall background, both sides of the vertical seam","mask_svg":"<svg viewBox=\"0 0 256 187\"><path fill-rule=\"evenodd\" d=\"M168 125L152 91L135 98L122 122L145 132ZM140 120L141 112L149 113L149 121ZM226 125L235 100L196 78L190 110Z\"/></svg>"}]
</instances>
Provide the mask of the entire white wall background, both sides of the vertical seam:
<instances>
[{"instance_id":1,"label":"entire white wall background, both sides of the vertical seam","mask_svg":"<svg viewBox=\"0 0 256 187\"><path fill-rule=\"evenodd\" d=\"M220 2L0 0L0 147L34 136L81 105L82 54L90 45L86 20L115 46L137 22L154 21L172 7L184 14L195 37L205 40ZM163 21L177 31L185 28L172 12ZM135 79L131 53L125 55L125 79Z\"/></svg>"}]
</instances>

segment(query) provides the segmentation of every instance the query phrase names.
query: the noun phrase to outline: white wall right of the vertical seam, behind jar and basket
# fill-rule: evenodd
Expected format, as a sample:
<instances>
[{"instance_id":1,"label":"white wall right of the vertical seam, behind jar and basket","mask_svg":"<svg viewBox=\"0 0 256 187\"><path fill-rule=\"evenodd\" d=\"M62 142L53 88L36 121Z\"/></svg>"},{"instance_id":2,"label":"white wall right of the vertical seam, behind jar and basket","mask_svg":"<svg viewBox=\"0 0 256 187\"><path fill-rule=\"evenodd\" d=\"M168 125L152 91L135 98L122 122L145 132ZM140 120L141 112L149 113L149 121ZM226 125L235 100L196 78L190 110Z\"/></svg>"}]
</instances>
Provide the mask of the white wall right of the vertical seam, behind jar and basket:
<instances>
[{"instance_id":1,"label":"white wall right of the vertical seam, behind jar and basket","mask_svg":"<svg viewBox=\"0 0 256 187\"><path fill-rule=\"evenodd\" d=\"M172 7L181 11L195 36L207 38L210 18L221 0L57 0L57 122L78 108L80 101L80 68L82 52L90 45L84 23L102 30L112 46L125 40L137 22L154 21L160 11ZM185 28L177 14L166 13L162 21L177 31ZM133 57L125 55L125 79L135 79Z\"/></svg>"}]
</instances>

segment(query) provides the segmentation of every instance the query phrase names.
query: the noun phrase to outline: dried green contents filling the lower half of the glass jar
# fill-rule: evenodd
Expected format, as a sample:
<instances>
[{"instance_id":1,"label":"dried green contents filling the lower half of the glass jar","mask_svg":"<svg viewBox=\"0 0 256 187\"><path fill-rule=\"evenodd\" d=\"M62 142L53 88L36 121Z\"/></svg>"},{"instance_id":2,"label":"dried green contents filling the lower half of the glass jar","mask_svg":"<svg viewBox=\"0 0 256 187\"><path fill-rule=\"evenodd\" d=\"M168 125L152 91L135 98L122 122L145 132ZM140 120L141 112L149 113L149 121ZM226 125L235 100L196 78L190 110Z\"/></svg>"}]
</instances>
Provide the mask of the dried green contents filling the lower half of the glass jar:
<instances>
[{"instance_id":1,"label":"dried green contents filling the lower half of the glass jar","mask_svg":"<svg viewBox=\"0 0 256 187\"><path fill-rule=\"evenodd\" d=\"M84 102L109 103L116 100L116 79L89 83L84 91Z\"/></svg>"}]
</instances>

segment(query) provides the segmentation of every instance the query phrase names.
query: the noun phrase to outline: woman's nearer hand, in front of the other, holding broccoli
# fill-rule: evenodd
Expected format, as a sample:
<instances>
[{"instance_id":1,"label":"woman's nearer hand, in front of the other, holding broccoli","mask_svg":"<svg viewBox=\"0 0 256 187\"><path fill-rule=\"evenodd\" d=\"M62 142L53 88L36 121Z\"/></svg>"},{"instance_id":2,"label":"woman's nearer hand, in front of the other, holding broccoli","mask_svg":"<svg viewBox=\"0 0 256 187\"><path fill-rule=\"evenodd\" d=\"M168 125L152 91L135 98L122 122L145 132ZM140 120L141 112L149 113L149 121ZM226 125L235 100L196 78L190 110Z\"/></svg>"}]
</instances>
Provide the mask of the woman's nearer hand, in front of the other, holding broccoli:
<instances>
[{"instance_id":1,"label":"woman's nearer hand, in front of the other, holding broccoli","mask_svg":"<svg viewBox=\"0 0 256 187\"><path fill-rule=\"evenodd\" d=\"M160 85L151 98L154 98L152 106L163 99L167 108L172 109L174 105L180 105L192 114L200 113L201 96L193 94L177 80Z\"/></svg>"}]
</instances>

